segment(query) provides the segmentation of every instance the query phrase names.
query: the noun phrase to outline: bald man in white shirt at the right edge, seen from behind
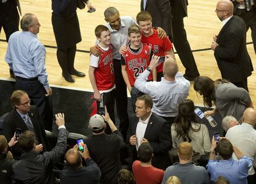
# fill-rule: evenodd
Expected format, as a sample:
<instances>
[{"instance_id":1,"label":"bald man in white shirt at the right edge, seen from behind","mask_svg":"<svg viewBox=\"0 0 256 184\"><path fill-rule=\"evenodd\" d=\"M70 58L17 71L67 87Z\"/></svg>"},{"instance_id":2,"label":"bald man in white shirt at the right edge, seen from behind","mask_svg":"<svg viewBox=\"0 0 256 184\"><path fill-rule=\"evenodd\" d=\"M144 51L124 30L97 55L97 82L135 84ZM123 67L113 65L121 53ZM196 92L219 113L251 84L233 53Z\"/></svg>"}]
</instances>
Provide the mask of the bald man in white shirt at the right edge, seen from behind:
<instances>
[{"instance_id":1,"label":"bald man in white shirt at the right edge, seen from behind","mask_svg":"<svg viewBox=\"0 0 256 184\"><path fill-rule=\"evenodd\" d=\"M237 146L238 149L244 153L245 156L254 159L254 167L256 166L256 130L254 129L256 124L256 111L253 108L247 108L244 111L242 117L242 124L240 126L234 126L229 128L226 133L231 143ZM233 158L237 160L237 157L233 154ZM255 169L252 166L248 172L248 183L254 183Z\"/></svg>"}]
</instances>

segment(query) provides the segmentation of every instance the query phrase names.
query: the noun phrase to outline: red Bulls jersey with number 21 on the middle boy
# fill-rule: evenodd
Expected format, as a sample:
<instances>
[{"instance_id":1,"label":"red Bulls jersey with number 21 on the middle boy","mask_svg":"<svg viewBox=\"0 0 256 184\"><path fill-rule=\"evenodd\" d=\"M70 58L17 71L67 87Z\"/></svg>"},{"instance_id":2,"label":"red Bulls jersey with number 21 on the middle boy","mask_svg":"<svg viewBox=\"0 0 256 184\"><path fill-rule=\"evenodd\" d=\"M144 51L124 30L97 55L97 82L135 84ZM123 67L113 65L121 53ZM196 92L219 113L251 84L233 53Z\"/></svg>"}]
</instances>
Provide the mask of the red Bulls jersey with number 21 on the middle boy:
<instances>
[{"instance_id":1,"label":"red Bulls jersey with number 21 on the middle boy","mask_svg":"<svg viewBox=\"0 0 256 184\"><path fill-rule=\"evenodd\" d=\"M128 74L130 86L134 86L135 80L139 77L139 74L142 73L148 65L150 65L150 46L147 44L141 44L139 52L135 53L131 51L129 46L126 46L127 51L122 54L124 60L126 61L126 71ZM150 73L148 75L148 80L153 80L153 75Z\"/></svg>"}]
</instances>

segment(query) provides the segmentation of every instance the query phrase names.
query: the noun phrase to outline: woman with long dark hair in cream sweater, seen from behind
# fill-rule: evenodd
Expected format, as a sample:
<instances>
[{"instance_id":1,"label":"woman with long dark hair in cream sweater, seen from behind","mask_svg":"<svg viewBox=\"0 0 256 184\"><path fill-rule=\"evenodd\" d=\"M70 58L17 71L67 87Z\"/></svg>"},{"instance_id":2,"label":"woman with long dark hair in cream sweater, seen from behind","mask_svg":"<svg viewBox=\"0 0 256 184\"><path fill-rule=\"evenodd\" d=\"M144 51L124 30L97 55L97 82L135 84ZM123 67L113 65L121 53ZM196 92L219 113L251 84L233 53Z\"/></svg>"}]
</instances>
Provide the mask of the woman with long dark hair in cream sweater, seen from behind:
<instances>
[{"instance_id":1,"label":"woman with long dark hair in cream sweater, seen from behind","mask_svg":"<svg viewBox=\"0 0 256 184\"><path fill-rule=\"evenodd\" d=\"M207 154L211 151L211 142L207 126L195 119L194 102L184 99L178 108L178 115L171 126L173 148L186 141L192 144L194 151Z\"/></svg>"}]
</instances>

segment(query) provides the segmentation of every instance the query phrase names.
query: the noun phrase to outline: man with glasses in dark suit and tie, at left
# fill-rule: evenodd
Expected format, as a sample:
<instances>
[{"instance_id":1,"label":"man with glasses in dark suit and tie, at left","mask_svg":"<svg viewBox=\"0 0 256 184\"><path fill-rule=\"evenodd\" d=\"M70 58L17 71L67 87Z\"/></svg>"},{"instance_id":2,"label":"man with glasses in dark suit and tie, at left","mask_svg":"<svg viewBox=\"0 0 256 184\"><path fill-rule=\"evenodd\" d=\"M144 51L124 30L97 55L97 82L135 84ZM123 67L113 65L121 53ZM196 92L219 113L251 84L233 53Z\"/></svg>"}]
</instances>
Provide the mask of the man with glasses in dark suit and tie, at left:
<instances>
[{"instance_id":1,"label":"man with glasses in dark suit and tie, at left","mask_svg":"<svg viewBox=\"0 0 256 184\"><path fill-rule=\"evenodd\" d=\"M36 151L40 153L49 150L48 140L45 134L42 120L36 106L30 106L30 99L25 91L17 90L12 93L11 102L14 109L4 119L2 127L3 134L7 141L10 141L14 132L19 128L19 132L31 130L35 133ZM12 154L15 159L19 159L22 151L19 144L12 147Z\"/></svg>"}]
</instances>

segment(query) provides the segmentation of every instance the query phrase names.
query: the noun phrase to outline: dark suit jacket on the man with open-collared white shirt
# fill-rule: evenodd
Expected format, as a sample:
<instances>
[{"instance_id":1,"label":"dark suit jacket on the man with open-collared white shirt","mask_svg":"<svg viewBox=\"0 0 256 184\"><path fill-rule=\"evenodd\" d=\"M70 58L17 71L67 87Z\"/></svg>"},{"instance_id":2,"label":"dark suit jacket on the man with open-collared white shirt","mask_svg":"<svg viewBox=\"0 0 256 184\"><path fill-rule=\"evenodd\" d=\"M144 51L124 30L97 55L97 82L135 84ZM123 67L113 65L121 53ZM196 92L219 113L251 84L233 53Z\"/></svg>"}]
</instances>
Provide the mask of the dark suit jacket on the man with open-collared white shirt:
<instances>
[{"instance_id":1,"label":"dark suit jacket on the man with open-collared white shirt","mask_svg":"<svg viewBox=\"0 0 256 184\"><path fill-rule=\"evenodd\" d=\"M139 118L133 114L129 117L129 121L129 129L127 132L128 141L130 140L130 136L135 135L136 133ZM169 167L171 163L169 160L168 151L172 147L172 141L171 127L168 122L152 112L144 138L148 140L153 148L154 157L152 159L152 165L160 169L166 169ZM136 146L132 146L132 153L133 159L138 159Z\"/></svg>"}]
</instances>

